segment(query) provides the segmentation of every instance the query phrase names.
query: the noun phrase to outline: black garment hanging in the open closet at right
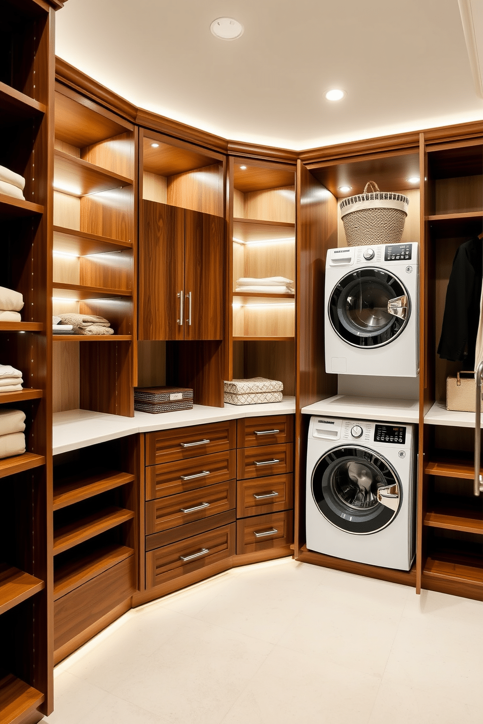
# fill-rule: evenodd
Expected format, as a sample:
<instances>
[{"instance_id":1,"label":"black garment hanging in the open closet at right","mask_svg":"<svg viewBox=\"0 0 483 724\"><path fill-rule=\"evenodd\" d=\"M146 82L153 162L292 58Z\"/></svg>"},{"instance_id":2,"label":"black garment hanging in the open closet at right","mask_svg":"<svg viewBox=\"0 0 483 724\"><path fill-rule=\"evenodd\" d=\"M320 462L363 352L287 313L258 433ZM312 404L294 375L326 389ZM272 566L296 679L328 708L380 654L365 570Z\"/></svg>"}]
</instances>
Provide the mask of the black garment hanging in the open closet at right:
<instances>
[{"instance_id":1,"label":"black garment hanging in the open closet at right","mask_svg":"<svg viewBox=\"0 0 483 724\"><path fill-rule=\"evenodd\" d=\"M461 244L455 253L437 348L442 359L464 360L466 369L474 368L482 294L482 247L482 241L475 237Z\"/></svg>"}]
</instances>

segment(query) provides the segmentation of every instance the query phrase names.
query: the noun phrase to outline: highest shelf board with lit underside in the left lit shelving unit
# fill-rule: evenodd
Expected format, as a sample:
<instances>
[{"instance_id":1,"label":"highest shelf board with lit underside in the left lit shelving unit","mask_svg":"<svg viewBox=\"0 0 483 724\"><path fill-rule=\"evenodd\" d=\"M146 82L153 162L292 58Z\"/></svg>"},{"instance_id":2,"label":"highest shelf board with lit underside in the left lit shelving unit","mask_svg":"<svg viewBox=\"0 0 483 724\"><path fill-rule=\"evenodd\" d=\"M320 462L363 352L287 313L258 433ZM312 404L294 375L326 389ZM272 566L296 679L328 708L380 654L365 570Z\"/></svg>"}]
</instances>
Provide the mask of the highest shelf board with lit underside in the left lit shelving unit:
<instances>
[{"instance_id":1,"label":"highest shelf board with lit underside in the left lit shelving unit","mask_svg":"<svg viewBox=\"0 0 483 724\"><path fill-rule=\"evenodd\" d=\"M64 151L55 151L54 189L72 196L85 196L133 185L133 180L106 171Z\"/></svg>"}]
</instances>

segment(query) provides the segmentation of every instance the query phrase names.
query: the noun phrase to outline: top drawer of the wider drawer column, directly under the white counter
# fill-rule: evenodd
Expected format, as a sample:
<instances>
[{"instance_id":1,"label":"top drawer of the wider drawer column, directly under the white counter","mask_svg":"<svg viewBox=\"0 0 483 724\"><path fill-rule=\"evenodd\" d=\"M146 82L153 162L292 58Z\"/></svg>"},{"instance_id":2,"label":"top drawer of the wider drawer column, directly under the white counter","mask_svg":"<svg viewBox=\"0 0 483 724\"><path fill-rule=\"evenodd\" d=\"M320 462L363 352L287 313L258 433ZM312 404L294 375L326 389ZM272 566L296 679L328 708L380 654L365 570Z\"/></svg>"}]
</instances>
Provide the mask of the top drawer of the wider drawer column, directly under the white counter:
<instances>
[{"instance_id":1,"label":"top drawer of the wider drawer column, directly under the white counter","mask_svg":"<svg viewBox=\"0 0 483 724\"><path fill-rule=\"evenodd\" d=\"M146 433L146 465L170 463L236 447L236 420Z\"/></svg>"}]
</instances>

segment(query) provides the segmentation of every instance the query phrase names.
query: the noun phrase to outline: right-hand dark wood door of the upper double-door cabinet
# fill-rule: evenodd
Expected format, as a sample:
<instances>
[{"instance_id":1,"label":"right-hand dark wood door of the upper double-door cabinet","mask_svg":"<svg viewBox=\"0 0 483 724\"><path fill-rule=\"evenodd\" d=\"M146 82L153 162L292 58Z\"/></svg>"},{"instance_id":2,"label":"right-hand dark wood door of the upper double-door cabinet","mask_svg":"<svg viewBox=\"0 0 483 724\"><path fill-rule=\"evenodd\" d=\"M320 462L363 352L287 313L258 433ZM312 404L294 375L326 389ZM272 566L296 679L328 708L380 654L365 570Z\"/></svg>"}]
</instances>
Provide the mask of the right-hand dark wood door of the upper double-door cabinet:
<instances>
[{"instance_id":1,"label":"right-hand dark wood door of the upper double-door cabinet","mask_svg":"<svg viewBox=\"0 0 483 724\"><path fill-rule=\"evenodd\" d=\"M185 340L221 340L224 219L185 214Z\"/></svg>"}]
</instances>

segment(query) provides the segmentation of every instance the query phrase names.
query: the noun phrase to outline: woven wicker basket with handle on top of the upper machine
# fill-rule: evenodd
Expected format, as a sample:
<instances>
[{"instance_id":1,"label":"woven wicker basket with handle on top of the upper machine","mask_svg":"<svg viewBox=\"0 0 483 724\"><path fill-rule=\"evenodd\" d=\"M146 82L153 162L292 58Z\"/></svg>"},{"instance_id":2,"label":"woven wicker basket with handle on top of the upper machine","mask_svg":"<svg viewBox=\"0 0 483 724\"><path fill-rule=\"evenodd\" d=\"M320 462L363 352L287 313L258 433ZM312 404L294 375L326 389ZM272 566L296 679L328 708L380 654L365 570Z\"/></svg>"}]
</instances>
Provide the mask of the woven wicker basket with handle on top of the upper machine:
<instances>
[{"instance_id":1,"label":"woven wicker basket with handle on top of the upper machine","mask_svg":"<svg viewBox=\"0 0 483 724\"><path fill-rule=\"evenodd\" d=\"M368 181L364 193L349 196L339 204L348 245L398 244L408 205L407 196L379 191L377 183Z\"/></svg>"}]
</instances>

